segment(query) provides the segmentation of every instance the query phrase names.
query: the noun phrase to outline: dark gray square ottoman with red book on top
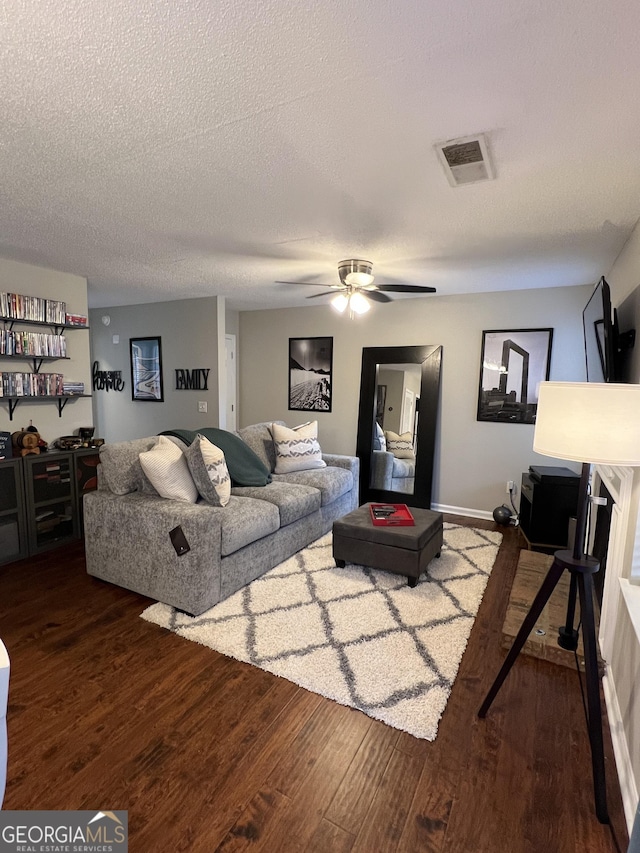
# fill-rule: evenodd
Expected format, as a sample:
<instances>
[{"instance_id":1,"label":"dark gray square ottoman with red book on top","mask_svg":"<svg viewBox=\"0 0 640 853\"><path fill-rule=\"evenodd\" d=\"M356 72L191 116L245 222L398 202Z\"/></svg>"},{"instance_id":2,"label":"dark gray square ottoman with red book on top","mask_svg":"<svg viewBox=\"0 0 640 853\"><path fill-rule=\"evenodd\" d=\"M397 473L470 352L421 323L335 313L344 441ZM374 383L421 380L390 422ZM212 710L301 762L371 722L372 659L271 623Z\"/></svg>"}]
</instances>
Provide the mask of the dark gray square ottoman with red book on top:
<instances>
[{"instance_id":1,"label":"dark gray square ottoman with red book on top","mask_svg":"<svg viewBox=\"0 0 640 853\"><path fill-rule=\"evenodd\" d=\"M409 578L415 586L420 575L442 549L442 513L410 507L412 527L377 527L369 504L363 504L333 522L333 558L336 566L359 563L386 569Z\"/></svg>"}]
</instances>

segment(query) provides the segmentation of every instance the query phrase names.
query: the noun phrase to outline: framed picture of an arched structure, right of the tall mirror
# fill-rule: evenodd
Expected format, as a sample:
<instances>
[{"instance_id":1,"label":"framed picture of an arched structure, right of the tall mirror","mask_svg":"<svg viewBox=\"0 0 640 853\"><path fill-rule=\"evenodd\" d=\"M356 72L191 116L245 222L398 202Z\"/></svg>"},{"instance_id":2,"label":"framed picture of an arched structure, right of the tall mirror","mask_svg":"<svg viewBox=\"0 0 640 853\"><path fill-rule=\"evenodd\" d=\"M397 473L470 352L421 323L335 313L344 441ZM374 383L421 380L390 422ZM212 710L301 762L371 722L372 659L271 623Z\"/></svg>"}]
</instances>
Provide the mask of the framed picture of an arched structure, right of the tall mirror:
<instances>
[{"instance_id":1,"label":"framed picture of an arched structure, right of the tall mirror","mask_svg":"<svg viewBox=\"0 0 640 853\"><path fill-rule=\"evenodd\" d=\"M534 424L538 385L549 378L553 329L482 333L478 420Z\"/></svg>"}]
</instances>

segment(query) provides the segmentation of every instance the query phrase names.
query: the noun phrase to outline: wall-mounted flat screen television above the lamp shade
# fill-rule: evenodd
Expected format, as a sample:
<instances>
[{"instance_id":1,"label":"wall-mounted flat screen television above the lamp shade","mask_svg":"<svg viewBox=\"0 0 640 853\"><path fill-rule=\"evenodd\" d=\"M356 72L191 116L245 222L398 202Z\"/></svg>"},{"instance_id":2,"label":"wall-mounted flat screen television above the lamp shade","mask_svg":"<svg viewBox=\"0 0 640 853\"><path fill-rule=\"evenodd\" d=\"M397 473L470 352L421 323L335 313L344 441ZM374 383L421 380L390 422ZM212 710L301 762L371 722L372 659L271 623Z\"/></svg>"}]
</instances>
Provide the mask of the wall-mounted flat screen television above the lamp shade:
<instances>
[{"instance_id":1,"label":"wall-mounted flat screen television above the lamp shade","mask_svg":"<svg viewBox=\"0 0 640 853\"><path fill-rule=\"evenodd\" d=\"M616 325L611 309L611 291L602 276L582 312L587 382L618 381Z\"/></svg>"}]
</instances>

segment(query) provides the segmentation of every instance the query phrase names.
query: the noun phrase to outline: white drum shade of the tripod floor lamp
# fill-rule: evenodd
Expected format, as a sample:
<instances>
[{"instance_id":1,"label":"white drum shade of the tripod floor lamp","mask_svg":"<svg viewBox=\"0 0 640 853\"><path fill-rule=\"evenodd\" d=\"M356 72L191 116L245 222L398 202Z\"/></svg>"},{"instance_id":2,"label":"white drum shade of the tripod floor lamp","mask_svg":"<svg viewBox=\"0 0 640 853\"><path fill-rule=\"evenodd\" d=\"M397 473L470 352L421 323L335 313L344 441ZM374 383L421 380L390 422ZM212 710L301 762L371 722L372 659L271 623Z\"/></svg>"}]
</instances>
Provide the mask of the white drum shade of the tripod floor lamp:
<instances>
[{"instance_id":1,"label":"white drum shade of the tripod floor lamp","mask_svg":"<svg viewBox=\"0 0 640 853\"><path fill-rule=\"evenodd\" d=\"M541 382L533 449L604 465L640 465L640 385Z\"/></svg>"}]
</instances>

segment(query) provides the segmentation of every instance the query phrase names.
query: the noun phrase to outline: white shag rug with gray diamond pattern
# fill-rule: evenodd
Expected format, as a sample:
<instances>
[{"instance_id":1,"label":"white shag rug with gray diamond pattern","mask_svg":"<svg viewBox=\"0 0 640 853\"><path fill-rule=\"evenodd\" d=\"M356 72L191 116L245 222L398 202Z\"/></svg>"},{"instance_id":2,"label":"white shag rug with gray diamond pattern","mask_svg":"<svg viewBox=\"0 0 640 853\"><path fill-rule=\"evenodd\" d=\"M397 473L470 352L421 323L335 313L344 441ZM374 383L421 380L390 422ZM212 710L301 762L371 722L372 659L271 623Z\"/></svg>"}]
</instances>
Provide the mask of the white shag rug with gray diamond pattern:
<instances>
[{"instance_id":1,"label":"white shag rug with gray diamond pattern","mask_svg":"<svg viewBox=\"0 0 640 853\"><path fill-rule=\"evenodd\" d=\"M501 540L446 523L442 556L411 589L337 568L329 533L201 616L153 604L142 618L434 740Z\"/></svg>"}]
</instances>

